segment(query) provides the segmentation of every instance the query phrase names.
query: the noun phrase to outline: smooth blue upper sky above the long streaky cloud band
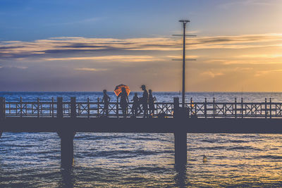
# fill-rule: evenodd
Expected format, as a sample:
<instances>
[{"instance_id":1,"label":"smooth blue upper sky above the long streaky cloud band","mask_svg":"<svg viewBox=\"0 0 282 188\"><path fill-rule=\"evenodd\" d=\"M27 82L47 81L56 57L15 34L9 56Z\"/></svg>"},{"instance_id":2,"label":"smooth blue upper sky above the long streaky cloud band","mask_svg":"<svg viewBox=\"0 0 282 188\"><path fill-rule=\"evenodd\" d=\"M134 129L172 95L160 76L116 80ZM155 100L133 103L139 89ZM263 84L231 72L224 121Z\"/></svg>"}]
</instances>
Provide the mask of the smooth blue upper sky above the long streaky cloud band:
<instances>
[{"instance_id":1,"label":"smooth blue upper sky above the long streaky cloud band","mask_svg":"<svg viewBox=\"0 0 282 188\"><path fill-rule=\"evenodd\" d=\"M177 20L182 18L192 21L190 30L204 35L254 34L273 25L252 25L273 15L271 3L275 1L1 0L0 35L1 40L23 41L73 36L154 37L180 30ZM278 29L281 27L272 27L273 32Z\"/></svg>"}]
</instances>

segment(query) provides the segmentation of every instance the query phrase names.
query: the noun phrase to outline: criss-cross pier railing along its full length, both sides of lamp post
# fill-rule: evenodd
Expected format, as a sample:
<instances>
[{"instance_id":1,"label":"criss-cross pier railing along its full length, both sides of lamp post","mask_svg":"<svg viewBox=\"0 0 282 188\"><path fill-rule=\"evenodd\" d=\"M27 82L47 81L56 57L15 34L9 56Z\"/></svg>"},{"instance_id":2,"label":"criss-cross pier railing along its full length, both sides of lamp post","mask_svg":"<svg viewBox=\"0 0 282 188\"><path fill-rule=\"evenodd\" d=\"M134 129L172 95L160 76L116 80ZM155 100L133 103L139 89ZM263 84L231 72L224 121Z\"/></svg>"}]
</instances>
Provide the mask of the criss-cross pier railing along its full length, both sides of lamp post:
<instances>
[{"instance_id":1,"label":"criss-cross pier railing along its full length, both sides of lamp post","mask_svg":"<svg viewBox=\"0 0 282 188\"><path fill-rule=\"evenodd\" d=\"M33 117L33 118L100 118L107 116L109 118L123 118L121 106L116 102L110 102L108 113L104 109L102 101L63 101L58 97L56 101L5 101L3 97L0 100L0 113L7 118ZM1 107L2 106L2 107ZM142 105L140 105L142 106ZM173 118L176 108L181 108L178 98L173 102L155 102L154 110L145 115L144 110L133 114L133 103L128 104L126 117L152 117L152 118ZM190 102L185 104L187 115L191 118L282 118L282 103L271 102L271 99L264 102L245 102L243 99L234 102L216 102L204 100L204 102ZM4 113L4 114L3 114Z\"/></svg>"}]
</instances>

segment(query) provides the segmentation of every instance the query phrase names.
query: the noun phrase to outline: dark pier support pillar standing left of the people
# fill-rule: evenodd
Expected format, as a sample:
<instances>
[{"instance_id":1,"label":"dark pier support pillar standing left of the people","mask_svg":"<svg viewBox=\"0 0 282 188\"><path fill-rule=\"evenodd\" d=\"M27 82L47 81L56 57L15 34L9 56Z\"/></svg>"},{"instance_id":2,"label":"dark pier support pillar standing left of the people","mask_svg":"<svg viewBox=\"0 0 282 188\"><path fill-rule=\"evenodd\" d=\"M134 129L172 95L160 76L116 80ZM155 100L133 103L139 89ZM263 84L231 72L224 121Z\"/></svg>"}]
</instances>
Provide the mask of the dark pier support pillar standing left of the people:
<instances>
[{"instance_id":1,"label":"dark pier support pillar standing left of the people","mask_svg":"<svg viewBox=\"0 0 282 188\"><path fill-rule=\"evenodd\" d=\"M73 138L75 137L75 132L65 130L58 132L61 138L61 167L62 168L72 168L73 166Z\"/></svg>"}]
</instances>

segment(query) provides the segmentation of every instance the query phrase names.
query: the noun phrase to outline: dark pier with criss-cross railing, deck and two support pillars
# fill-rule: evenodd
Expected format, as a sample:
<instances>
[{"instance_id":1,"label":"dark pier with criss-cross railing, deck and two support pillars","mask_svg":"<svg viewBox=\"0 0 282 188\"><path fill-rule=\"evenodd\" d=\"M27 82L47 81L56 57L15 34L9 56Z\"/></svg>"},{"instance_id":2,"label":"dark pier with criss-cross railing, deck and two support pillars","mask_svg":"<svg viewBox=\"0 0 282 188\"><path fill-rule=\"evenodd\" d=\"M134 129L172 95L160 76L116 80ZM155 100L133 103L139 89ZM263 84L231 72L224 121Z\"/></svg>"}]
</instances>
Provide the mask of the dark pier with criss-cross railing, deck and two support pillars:
<instances>
[{"instance_id":1,"label":"dark pier with criss-cross railing, deck and two support pillars","mask_svg":"<svg viewBox=\"0 0 282 188\"><path fill-rule=\"evenodd\" d=\"M61 165L73 164L73 138L76 132L173 133L175 162L187 162L187 133L282 133L282 103L265 99L260 103L234 99L194 102L185 106L178 97L173 102L154 103L154 112L134 115L128 104L125 118L118 101L6 101L0 97L0 135L2 132L57 132L61 138ZM184 107L184 108L183 108ZM189 143L189 141L188 141Z\"/></svg>"}]
</instances>

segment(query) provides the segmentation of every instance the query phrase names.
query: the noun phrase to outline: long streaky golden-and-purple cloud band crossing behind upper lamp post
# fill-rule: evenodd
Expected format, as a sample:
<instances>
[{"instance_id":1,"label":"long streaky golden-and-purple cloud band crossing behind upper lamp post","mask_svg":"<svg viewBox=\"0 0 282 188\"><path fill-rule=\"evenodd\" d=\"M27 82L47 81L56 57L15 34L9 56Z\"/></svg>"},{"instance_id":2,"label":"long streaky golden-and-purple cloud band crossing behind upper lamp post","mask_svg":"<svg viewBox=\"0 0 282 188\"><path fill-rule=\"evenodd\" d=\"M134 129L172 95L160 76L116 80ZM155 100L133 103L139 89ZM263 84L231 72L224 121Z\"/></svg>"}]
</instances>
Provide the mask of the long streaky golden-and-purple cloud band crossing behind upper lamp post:
<instances>
[{"instance_id":1,"label":"long streaky golden-and-purple cloud band crossing behind upper lamp post","mask_svg":"<svg viewBox=\"0 0 282 188\"><path fill-rule=\"evenodd\" d=\"M280 48L281 43L282 34L211 36L187 39L187 49ZM147 54L181 51L182 39L176 37L130 39L53 37L33 42L0 42L0 49L0 61L8 59L35 59L36 61L92 59L102 61L102 58L109 61L114 58L119 60L124 58L124 61L162 61L164 59L160 56L147 56ZM144 55L140 56L140 53ZM106 58L106 56L109 57Z\"/></svg>"}]
</instances>

